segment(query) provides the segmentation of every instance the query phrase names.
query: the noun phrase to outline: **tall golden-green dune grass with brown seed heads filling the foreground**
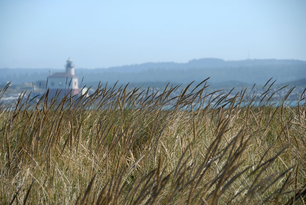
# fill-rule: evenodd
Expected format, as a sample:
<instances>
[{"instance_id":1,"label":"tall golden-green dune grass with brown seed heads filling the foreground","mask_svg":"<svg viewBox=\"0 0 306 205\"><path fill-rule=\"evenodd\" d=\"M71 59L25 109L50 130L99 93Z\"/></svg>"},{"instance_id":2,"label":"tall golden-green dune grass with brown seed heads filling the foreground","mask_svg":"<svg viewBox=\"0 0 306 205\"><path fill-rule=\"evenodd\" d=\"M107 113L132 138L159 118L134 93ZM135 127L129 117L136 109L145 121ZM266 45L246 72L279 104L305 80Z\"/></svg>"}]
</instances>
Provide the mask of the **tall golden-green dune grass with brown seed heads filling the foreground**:
<instances>
[{"instance_id":1,"label":"tall golden-green dune grass with brown seed heads filling the foreground","mask_svg":"<svg viewBox=\"0 0 306 205\"><path fill-rule=\"evenodd\" d=\"M22 93L0 105L0 203L305 204L305 93L269 86Z\"/></svg>"}]
</instances>

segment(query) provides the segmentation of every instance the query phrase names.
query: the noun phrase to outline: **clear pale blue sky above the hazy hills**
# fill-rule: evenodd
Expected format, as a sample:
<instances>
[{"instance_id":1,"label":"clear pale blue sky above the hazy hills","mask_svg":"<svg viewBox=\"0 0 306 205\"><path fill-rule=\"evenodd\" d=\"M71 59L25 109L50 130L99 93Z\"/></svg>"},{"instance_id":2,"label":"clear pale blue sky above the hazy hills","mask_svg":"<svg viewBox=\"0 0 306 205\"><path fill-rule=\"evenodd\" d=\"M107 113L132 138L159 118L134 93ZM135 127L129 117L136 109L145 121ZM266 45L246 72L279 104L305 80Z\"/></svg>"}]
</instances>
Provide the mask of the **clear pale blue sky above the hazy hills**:
<instances>
[{"instance_id":1,"label":"clear pale blue sky above the hazy hills","mask_svg":"<svg viewBox=\"0 0 306 205\"><path fill-rule=\"evenodd\" d=\"M305 0L0 1L0 68L306 60Z\"/></svg>"}]
</instances>

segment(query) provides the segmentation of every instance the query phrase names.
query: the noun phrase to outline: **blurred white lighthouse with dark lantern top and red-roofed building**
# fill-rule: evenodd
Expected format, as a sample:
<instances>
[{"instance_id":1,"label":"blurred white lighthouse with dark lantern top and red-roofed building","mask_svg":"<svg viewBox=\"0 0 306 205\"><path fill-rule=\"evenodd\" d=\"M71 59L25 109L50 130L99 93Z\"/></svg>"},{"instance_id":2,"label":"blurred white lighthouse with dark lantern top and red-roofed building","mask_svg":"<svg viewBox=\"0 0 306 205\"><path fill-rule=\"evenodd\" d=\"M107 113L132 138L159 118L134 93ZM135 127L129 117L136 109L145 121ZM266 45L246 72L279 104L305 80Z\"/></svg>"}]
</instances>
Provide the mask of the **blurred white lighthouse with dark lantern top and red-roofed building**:
<instances>
[{"instance_id":1,"label":"blurred white lighthouse with dark lantern top and red-roofed building","mask_svg":"<svg viewBox=\"0 0 306 205\"><path fill-rule=\"evenodd\" d=\"M75 76L73 61L68 58L66 61L66 72L63 73L54 73L48 76L48 88L49 93L53 94L57 91L62 90L62 94L67 94L72 91L73 95L79 93L79 81L78 77Z\"/></svg>"}]
</instances>

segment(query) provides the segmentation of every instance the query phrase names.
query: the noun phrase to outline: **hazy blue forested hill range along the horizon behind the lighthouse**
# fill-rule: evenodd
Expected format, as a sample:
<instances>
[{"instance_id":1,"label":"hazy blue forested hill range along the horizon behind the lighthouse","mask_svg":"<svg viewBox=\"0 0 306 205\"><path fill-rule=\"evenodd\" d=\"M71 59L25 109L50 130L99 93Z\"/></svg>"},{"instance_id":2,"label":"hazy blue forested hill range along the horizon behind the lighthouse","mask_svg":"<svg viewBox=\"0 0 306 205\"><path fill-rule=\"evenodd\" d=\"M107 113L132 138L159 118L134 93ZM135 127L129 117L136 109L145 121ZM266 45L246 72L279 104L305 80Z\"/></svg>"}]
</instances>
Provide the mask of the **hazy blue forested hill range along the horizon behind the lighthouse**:
<instances>
[{"instance_id":1,"label":"hazy blue forested hill range along the horizon behind the lighthouse","mask_svg":"<svg viewBox=\"0 0 306 205\"><path fill-rule=\"evenodd\" d=\"M77 65L77 61L76 61ZM63 68L64 69L64 68ZM62 69L62 70L63 70ZM0 69L0 84L13 81L13 84L47 80L49 70L60 72L58 69ZM193 80L201 82L211 77L210 83L239 86L265 84L271 77L277 79L275 84L296 82L306 84L306 61L299 60L241 60L224 61L218 58L202 58L186 63L159 62L124 65L110 68L85 69L76 67L82 85L97 85L102 83L127 82L175 82L188 83ZM301 80L301 81L298 81Z\"/></svg>"}]
</instances>

